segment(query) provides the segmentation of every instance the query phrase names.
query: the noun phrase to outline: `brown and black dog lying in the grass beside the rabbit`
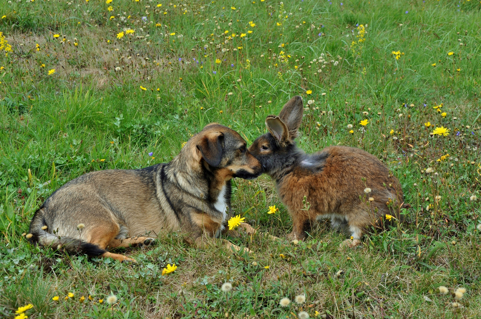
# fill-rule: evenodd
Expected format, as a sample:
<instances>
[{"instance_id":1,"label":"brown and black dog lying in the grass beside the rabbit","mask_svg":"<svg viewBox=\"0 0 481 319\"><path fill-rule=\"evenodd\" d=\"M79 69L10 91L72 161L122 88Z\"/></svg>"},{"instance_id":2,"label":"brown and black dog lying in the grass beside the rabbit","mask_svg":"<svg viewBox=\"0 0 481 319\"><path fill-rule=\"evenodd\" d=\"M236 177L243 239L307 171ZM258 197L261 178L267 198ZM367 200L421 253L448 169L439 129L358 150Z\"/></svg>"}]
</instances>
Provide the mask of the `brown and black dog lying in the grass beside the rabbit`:
<instances>
[{"instance_id":1,"label":"brown and black dog lying in the grass beside the rabbit","mask_svg":"<svg viewBox=\"0 0 481 319\"><path fill-rule=\"evenodd\" d=\"M226 233L232 178L254 179L261 173L241 135L212 123L168 163L89 172L64 184L35 212L27 238L131 262L135 259L108 250L149 246L162 233L176 231L202 248ZM241 227L255 232L246 223ZM239 249L226 239L223 244Z\"/></svg>"}]
</instances>

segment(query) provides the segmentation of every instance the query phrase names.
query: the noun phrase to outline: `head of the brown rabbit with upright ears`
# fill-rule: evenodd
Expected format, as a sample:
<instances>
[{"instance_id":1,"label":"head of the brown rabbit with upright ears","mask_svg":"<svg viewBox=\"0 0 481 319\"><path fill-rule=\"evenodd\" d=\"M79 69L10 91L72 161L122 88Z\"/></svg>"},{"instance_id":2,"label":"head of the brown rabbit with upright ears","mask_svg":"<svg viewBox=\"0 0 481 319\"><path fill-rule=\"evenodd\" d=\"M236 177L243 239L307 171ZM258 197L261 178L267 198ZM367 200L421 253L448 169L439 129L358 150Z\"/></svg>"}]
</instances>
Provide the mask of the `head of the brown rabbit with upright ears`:
<instances>
[{"instance_id":1,"label":"head of the brown rabbit with upright ears","mask_svg":"<svg viewBox=\"0 0 481 319\"><path fill-rule=\"evenodd\" d=\"M266 118L268 133L256 138L249 152L258 159L264 172L273 175L299 152L294 139L302 122L303 102L300 96L291 98L282 108L279 116Z\"/></svg>"}]
</instances>

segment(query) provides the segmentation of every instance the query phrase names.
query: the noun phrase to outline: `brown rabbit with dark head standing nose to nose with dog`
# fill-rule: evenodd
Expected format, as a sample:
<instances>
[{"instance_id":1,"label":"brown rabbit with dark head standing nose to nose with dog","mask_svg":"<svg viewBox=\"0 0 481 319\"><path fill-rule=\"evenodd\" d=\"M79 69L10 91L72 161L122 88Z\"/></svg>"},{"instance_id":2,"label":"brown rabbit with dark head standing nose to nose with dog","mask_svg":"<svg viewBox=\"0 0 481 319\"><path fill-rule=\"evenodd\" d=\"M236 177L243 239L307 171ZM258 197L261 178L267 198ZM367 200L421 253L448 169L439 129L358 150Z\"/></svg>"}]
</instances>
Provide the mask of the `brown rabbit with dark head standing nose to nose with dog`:
<instances>
[{"instance_id":1,"label":"brown rabbit with dark head standing nose to nose with dog","mask_svg":"<svg viewBox=\"0 0 481 319\"><path fill-rule=\"evenodd\" d=\"M401 184L376 156L359 148L329 146L305 154L295 141L303 110L302 97L295 96L279 116L267 116L268 133L259 136L249 152L275 181L288 208L290 239L304 239L316 219L330 217L332 228L351 234L341 246L354 247L361 244L367 226L380 227L386 215L399 220Z\"/></svg>"}]
</instances>

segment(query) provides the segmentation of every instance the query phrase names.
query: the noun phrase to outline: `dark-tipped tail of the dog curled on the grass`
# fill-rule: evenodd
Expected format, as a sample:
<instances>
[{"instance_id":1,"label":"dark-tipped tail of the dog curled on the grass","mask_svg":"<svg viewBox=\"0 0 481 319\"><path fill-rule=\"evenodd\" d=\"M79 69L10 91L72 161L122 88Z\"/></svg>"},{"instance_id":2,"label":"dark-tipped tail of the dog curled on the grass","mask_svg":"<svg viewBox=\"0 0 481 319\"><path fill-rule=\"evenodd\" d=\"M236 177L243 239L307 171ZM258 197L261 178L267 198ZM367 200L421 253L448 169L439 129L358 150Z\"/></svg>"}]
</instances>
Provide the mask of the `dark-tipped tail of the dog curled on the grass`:
<instances>
[{"instance_id":1,"label":"dark-tipped tail of the dog curled on the grass","mask_svg":"<svg viewBox=\"0 0 481 319\"><path fill-rule=\"evenodd\" d=\"M53 230L51 230L52 228L50 226L44 216L44 209L38 209L30 223L29 234L26 235L27 239L33 244L51 246L54 249L64 249L74 254L98 256L106 252L105 249L81 240L80 238L61 237L55 233L51 233Z\"/></svg>"}]
</instances>

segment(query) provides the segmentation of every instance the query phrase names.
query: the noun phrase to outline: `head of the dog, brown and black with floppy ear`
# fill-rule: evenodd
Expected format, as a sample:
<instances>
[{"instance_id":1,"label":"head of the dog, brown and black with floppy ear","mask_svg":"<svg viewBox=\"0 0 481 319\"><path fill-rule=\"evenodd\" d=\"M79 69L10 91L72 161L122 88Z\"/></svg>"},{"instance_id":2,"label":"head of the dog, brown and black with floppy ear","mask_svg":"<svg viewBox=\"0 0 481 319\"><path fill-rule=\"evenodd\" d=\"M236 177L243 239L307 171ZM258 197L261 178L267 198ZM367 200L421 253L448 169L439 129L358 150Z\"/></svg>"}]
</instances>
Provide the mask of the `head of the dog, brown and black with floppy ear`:
<instances>
[{"instance_id":1,"label":"head of the dog, brown and black with floppy ear","mask_svg":"<svg viewBox=\"0 0 481 319\"><path fill-rule=\"evenodd\" d=\"M261 163L249 153L244 139L227 126L209 124L185 147L195 152L195 160L210 172L223 175L224 180L232 177L254 179L262 173Z\"/></svg>"}]
</instances>

